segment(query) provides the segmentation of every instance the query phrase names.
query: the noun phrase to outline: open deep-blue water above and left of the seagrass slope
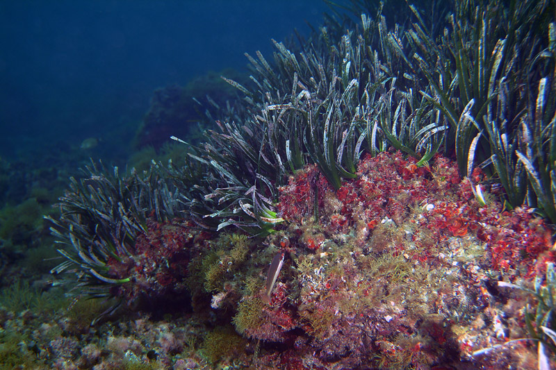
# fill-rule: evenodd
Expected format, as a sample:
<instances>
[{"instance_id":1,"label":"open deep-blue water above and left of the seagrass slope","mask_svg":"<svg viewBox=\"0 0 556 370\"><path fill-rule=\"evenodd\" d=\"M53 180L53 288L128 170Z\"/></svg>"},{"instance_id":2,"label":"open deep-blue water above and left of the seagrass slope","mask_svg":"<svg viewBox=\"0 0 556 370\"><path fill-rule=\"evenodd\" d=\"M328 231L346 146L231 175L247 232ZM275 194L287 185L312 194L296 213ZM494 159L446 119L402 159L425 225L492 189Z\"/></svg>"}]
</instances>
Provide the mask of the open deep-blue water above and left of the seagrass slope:
<instances>
[{"instance_id":1,"label":"open deep-blue water above and left of the seagrass slope","mask_svg":"<svg viewBox=\"0 0 556 370\"><path fill-rule=\"evenodd\" d=\"M270 58L271 37L308 34L326 10L318 0L1 1L0 158L69 153L87 137L120 155L154 89L245 69L244 52Z\"/></svg>"}]
</instances>

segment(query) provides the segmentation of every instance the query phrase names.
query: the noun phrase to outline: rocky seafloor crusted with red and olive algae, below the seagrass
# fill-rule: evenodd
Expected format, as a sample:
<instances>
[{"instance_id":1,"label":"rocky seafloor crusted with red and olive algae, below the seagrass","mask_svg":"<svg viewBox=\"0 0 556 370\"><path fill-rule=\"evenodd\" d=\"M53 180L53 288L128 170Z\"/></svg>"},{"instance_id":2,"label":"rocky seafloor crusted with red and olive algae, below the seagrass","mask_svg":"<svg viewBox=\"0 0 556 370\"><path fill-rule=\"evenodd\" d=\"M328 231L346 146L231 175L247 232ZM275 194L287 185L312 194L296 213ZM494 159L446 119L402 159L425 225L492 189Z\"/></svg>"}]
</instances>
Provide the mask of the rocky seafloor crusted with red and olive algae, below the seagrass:
<instances>
[{"instance_id":1,"label":"rocky seafloor crusted with red and olive algae, below the seagrass","mask_svg":"<svg viewBox=\"0 0 556 370\"><path fill-rule=\"evenodd\" d=\"M151 221L114 262L134 279L115 285L122 308L93 326L111 302L67 301L47 278L4 289L0 369L537 369L533 340L473 352L539 330L525 288L554 260L551 230L472 180L480 202L446 158L380 153L337 191L316 166L297 171L265 238Z\"/></svg>"}]
</instances>

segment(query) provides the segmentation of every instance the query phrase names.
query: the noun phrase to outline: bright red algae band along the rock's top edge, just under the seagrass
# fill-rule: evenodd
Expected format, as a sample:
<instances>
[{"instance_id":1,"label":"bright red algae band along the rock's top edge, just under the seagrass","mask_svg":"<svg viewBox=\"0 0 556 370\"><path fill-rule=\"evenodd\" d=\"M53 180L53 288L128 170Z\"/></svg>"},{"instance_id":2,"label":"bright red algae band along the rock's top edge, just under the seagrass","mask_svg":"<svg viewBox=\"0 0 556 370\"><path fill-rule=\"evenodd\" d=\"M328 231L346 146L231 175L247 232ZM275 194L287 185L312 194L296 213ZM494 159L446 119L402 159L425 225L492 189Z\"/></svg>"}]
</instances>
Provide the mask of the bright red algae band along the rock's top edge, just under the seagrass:
<instances>
[{"instance_id":1,"label":"bright red algae band along the rock's top edge, just under the seagrass","mask_svg":"<svg viewBox=\"0 0 556 370\"><path fill-rule=\"evenodd\" d=\"M411 220L416 227L427 228L435 244L449 237L476 237L489 251L493 269L514 269L519 263L532 276L542 270L535 267L537 256L546 253L543 262L553 260L548 253L550 230L532 210L501 212L499 201L480 207L472 190L484 179L480 169L473 171L471 183L441 155L434 157L432 166L417 167L416 162L399 151L367 155L359 162L357 178L345 180L336 192L316 166L307 166L280 188L279 215L297 224L311 223L316 215L325 235L352 232L355 242L363 245L380 223L391 220L401 226L411 219L412 208L426 206L429 212ZM302 242L317 249L310 237Z\"/></svg>"}]
</instances>

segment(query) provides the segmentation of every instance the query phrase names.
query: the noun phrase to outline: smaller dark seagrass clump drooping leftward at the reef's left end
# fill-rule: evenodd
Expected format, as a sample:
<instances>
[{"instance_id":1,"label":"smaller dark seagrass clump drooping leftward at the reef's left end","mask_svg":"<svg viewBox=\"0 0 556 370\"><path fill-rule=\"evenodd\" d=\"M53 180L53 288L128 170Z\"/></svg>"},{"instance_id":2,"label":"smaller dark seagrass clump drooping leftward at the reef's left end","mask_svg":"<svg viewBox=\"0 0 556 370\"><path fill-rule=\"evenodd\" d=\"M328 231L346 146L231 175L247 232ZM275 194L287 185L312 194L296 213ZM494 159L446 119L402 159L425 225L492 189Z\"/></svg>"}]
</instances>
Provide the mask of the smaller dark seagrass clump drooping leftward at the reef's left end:
<instances>
[{"instance_id":1,"label":"smaller dark seagrass clump drooping leftward at the reef's left end","mask_svg":"<svg viewBox=\"0 0 556 370\"><path fill-rule=\"evenodd\" d=\"M78 296L110 297L114 284L129 281L111 276L108 262L133 255L136 238L147 233L147 220L169 221L181 207L181 194L157 167L124 176L117 167L108 170L92 162L83 178L70 179L58 203L60 217L47 217L65 258L51 271L60 275L56 284L72 285Z\"/></svg>"}]
</instances>

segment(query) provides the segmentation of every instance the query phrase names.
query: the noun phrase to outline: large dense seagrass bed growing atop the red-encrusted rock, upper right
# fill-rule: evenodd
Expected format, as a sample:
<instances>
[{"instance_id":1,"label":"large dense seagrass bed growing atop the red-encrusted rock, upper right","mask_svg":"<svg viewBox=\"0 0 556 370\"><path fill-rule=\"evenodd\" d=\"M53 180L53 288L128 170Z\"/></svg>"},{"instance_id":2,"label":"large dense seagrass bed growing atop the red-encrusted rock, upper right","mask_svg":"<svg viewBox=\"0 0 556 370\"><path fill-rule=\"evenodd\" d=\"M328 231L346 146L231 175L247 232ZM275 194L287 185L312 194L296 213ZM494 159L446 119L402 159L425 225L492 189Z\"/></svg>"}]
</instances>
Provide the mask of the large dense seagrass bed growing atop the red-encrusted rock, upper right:
<instances>
[{"instance_id":1,"label":"large dense seagrass bed growing atop the red-encrusted rock, upper right","mask_svg":"<svg viewBox=\"0 0 556 370\"><path fill-rule=\"evenodd\" d=\"M195 155L222 183L204 194L218 199L218 228L269 231L293 171L315 163L338 189L362 153L389 148L419 165L442 151L464 176L480 166L507 208L526 202L556 221L554 1L445 5L404 3L398 24L387 10L399 2L351 1L359 22L327 17L298 45L273 40L272 60L247 55L251 83L224 78L244 94L241 114Z\"/></svg>"}]
</instances>

